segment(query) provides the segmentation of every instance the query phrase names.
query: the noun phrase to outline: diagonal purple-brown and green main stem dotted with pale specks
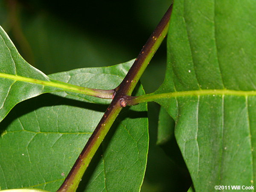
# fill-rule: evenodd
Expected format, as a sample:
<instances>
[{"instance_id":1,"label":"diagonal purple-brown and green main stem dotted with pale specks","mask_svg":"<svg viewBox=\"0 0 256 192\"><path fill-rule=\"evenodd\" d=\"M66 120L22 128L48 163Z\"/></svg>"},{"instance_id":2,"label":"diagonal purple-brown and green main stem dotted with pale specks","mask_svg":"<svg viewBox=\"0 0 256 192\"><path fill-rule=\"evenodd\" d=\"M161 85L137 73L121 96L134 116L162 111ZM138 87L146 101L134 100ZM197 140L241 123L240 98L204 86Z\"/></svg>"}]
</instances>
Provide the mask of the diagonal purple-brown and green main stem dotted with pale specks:
<instances>
[{"instance_id":1,"label":"diagonal purple-brown and green main stem dotted with pale specks","mask_svg":"<svg viewBox=\"0 0 256 192\"><path fill-rule=\"evenodd\" d=\"M140 76L143 74L145 68L148 66L149 61L153 57L155 51L160 46L163 38L166 36L169 26L169 20L172 13L172 5L167 10L166 14L163 16L162 20L146 42L145 46L138 55L136 61L131 66L131 69L128 71L124 80L121 84L114 89L114 97L109 105L107 111L102 116L99 124L93 131L93 134L87 141L84 149L81 151L76 163L70 170L67 178L64 183L58 189L58 192L74 192L76 191L81 177L83 176L87 166L90 163L93 155L99 148L99 145L102 143L106 134L108 133L111 125L116 119L119 112L122 110L122 107L126 106L125 96L131 95L134 87L138 83Z\"/></svg>"}]
</instances>

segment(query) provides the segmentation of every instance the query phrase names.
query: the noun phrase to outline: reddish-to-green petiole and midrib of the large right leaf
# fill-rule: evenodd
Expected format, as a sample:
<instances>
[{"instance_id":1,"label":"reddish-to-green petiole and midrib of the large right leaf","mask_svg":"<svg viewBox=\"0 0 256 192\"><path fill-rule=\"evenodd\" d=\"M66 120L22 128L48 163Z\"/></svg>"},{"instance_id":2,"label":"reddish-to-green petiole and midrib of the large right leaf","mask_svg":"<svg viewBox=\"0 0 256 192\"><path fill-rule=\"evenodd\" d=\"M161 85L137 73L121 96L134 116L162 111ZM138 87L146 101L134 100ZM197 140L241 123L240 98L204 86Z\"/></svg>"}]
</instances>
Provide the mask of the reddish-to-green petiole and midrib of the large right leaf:
<instances>
[{"instance_id":1,"label":"reddish-to-green petiole and midrib of the large right leaf","mask_svg":"<svg viewBox=\"0 0 256 192\"><path fill-rule=\"evenodd\" d=\"M242 91L242 90L227 90L227 89L213 89L213 90L191 90L191 91L180 91L172 93L150 93L142 96L127 96L125 102L127 105L137 105L143 102L152 102L157 99L176 98L184 96L221 96L221 95L232 95L232 96L256 96L256 91Z\"/></svg>"}]
</instances>

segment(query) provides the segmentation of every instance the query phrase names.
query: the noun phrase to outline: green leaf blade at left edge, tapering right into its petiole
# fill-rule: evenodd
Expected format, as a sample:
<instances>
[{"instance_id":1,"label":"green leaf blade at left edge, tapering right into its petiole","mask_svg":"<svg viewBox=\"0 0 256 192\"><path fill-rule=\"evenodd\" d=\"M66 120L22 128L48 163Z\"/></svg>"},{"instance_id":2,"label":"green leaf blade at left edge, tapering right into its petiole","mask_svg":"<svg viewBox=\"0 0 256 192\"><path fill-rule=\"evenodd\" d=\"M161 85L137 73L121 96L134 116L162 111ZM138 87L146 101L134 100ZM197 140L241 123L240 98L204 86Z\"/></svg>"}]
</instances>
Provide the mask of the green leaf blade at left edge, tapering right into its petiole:
<instances>
[{"instance_id":1,"label":"green leaf blade at left edge, tapering right into its petiole","mask_svg":"<svg viewBox=\"0 0 256 192\"><path fill-rule=\"evenodd\" d=\"M0 27L0 121L19 102L40 95L54 88L42 84L19 81L50 81L41 71L29 65L17 52L8 35Z\"/></svg>"}]
</instances>

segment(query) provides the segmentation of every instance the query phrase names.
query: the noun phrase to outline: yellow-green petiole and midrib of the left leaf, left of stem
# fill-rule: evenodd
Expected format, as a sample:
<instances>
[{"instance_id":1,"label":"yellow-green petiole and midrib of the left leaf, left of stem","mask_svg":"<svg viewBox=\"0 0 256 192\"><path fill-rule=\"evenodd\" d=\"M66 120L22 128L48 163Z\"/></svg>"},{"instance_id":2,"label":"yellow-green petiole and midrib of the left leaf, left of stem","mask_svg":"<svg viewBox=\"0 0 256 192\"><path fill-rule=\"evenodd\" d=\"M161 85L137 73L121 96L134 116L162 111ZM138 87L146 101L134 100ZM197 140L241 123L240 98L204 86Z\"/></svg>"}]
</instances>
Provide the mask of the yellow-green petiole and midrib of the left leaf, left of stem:
<instances>
[{"instance_id":1,"label":"yellow-green petiole and midrib of the left leaf, left of stem","mask_svg":"<svg viewBox=\"0 0 256 192\"><path fill-rule=\"evenodd\" d=\"M80 87L77 85L64 83L61 81L56 81L53 79L51 79L50 81L43 81L43 80L39 80L39 79L32 79L32 78L28 78L28 77L10 75L10 74L6 74L6 73L0 73L0 78L41 84L41 85L49 86L49 87L57 87L57 88L61 88L61 90L59 90L59 91L69 91L69 92L74 92L74 93L81 93L81 94L85 94L85 95L99 97L102 99L112 99L112 96L114 93L114 90L91 89L91 88L87 88L87 87Z\"/></svg>"}]
</instances>

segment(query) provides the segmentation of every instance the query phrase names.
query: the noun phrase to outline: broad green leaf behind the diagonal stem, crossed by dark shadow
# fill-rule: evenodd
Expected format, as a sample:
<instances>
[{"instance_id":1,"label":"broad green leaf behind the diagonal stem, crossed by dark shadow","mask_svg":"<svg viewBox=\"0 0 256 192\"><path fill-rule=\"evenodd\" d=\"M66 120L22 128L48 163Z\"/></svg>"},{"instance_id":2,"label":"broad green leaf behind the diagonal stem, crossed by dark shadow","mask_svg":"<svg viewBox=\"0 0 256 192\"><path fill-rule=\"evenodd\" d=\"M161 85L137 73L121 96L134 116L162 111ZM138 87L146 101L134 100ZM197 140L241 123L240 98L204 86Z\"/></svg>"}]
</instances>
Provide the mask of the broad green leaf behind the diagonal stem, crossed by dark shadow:
<instances>
[{"instance_id":1,"label":"broad green leaf behind the diagonal stem, crossed by dark shadow","mask_svg":"<svg viewBox=\"0 0 256 192\"><path fill-rule=\"evenodd\" d=\"M112 67L78 69L50 77L69 79L77 85L113 88L122 81L131 64L132 61ZM137 94L144 94L141 86ZM59 92L15 106L0 123L1 189L58 189L107 108L97 99L88 102L88 98ZM97 151L98 156L93 157L85 172L88 176L82 179L80 191L140 189L148 152L146 111L146 104L121 111Z\"/></svg>"}]
</instances>

